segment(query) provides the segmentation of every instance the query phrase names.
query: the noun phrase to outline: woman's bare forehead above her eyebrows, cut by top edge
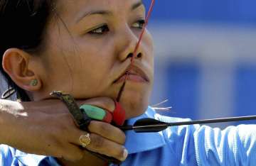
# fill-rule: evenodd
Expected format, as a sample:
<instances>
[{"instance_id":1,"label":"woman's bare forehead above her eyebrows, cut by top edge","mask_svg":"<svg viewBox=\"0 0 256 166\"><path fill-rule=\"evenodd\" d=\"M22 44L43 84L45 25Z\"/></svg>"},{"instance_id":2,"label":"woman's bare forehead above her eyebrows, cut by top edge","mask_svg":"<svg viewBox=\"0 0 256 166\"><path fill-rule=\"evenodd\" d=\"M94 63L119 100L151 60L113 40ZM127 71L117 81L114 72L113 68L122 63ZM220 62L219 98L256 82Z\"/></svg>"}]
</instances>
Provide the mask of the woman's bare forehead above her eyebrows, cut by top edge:
<instances>
[{"instance_id":1,"label":"woman's bare forehead above her eyebrows, cut by top edge","mask_svg":"<svg viewBox=\"0 0 256 166\"><path fill-rule=\"evenodd\" d=\"M79 17L91 10L107 10L122 14L128 11L132 4L142 0L58 0L56 6L60 14L67 17Z\"/></svg>"}]
</instances>

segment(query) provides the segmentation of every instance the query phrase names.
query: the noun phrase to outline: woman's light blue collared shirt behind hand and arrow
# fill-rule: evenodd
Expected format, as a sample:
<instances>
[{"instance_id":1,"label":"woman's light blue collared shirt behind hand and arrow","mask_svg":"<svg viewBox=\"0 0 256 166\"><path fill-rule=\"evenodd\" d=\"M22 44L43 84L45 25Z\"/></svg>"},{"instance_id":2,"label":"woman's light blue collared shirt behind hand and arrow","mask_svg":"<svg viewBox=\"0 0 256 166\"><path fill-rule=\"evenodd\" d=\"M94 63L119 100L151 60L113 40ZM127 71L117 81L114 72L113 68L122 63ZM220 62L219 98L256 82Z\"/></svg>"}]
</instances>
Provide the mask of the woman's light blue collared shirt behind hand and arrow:
<instances>
[{"instance_id":1,"label":"woman's light blue collared shirt behind hand and arrow","mask_svg":"<svg viewBox=\"0 0 256 166\"><path fill-rule=\"evenodd\" d=\"M149 107L139 118L160 121L189 121L156 114ZM230 126L220 131L208 126L174 126L159 133L128 131L125 147L129 151L124 166L166 165L256 165L256 125ZM26 154L7 145L0 145L1 166L45 166L58 163L53 157Z\"/></svg>"}]
</instances>

